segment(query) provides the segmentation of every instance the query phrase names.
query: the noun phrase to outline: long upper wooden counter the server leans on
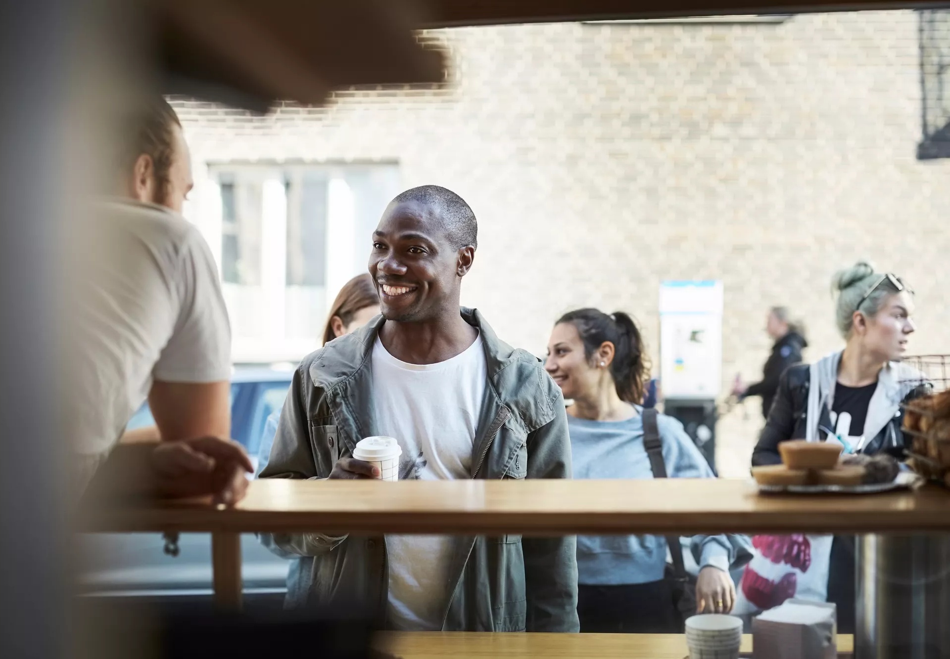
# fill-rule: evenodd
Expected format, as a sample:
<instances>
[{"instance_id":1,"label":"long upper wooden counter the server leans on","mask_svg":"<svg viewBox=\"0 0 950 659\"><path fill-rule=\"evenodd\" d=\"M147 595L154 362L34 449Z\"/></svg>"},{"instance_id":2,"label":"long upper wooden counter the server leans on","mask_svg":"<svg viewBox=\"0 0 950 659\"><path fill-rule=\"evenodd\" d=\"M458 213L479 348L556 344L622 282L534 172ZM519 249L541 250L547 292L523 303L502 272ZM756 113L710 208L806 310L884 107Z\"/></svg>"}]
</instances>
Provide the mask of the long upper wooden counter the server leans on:
<instances>
[{"instance_id":1,"label":"long upper wooden counter the server leans on","mask_svg":"<svg viewBox=\"0 0 950 659\"><path fill-rule=\"evenodd\" d=\"M142 503L86 515L100 532L358 534L950 531L950 491L759 495L750 480L255 480L230 510Z\"/></svg>"}]
</instances>

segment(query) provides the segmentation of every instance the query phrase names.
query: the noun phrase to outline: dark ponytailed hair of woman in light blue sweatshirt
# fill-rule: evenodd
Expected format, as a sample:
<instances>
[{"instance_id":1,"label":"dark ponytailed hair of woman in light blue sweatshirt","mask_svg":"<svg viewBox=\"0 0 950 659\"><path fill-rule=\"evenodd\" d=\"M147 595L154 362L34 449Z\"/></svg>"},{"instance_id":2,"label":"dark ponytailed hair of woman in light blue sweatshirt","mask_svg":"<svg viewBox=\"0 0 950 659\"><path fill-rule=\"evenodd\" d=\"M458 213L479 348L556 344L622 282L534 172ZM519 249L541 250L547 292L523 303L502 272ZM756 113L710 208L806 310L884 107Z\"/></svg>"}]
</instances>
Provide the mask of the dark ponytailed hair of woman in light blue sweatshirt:
<instances>
[{"instance_id":1,"label":"dark ponytailed hair of woman in light blue sweatshirt","mask_svg":"<svg viewBox=\"0 0 950 659\"><path fill-rule=\"evenodd\" d=\"M557 324L561 323L570 323L577 328L588 361L593 361L595 351L604 343L614 344L610 374L614 377L617 395L627 403L639 405L643 402L650 364L633 318L623 311L607 315L597 309L579 309L562 315Z\"/></svg>"}]
</instances>

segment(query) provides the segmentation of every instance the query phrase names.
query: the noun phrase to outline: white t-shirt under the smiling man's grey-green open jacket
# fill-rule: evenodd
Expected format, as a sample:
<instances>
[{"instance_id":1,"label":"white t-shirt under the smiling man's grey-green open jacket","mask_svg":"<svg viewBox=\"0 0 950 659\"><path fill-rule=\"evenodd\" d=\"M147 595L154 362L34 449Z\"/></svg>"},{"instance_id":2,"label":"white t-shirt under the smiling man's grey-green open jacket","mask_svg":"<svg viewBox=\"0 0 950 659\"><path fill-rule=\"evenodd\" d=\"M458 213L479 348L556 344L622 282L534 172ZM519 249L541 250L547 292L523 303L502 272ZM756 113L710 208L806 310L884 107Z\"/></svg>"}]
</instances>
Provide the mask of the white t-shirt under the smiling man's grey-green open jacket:
<instances>
[{"instance_id":1,"label":"white t-shirt under the smiling man's grey-green open jacket","mask_svg":"<svg viewBox=\"0 0 950 659\"><path fill-rule=\"evenodd\" d=\"M396 438L403 450L399 480L471 478L487 377L481 336L461 354L425 366L399 361L376 339L372 406L379 432ZM442 628L454 546L450 536L386 537L394 629Z\"/></svg>"}]
</instances>

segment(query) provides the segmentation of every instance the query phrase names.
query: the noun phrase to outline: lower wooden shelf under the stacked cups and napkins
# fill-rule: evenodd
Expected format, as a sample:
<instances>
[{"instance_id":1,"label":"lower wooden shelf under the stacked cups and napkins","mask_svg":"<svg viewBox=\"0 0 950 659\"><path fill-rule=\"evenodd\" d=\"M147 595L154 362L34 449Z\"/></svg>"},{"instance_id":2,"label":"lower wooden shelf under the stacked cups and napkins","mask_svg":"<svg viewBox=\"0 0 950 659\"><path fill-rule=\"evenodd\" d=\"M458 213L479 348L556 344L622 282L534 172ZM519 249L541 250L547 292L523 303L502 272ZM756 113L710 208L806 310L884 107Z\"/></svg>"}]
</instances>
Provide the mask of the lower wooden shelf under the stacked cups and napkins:
<instances>
[{"instance_id":1,"label":"lower wooden shelf under the stacked cups and napkins","mask_svg":"<svg viewBox=\"0 0 950 659\"><path fill-rule=\"evenodd\" d=\"M853 638L838 636L838 650L850 652ZM683 659L689 650L679 634L560 634L390 631L373 641L378 650L402 659L436 657L599 657L599 659ZM742 650L752 649L746 635Z\"/></svg>"}]
</instances>

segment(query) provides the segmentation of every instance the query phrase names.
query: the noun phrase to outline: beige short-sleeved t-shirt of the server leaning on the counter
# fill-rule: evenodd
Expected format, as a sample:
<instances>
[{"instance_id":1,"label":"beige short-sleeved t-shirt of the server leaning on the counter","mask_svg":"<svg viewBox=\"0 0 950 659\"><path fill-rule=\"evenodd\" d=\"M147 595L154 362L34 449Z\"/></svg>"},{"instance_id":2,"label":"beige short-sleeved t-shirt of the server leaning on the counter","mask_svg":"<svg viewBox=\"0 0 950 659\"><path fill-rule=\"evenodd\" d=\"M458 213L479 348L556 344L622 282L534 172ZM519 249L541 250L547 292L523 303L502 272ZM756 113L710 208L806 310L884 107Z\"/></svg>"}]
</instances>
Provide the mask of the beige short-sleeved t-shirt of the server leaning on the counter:
<instances>
[{"instance_id":1,"label":"beige short-sleeved t-shirt of the server leaning on the counter","mask_svg":"<svg viewBox=\"0 0 950 659\"><path fill-rule=\"evenodd\" d=\"M152 204L96 204L68 286L70 431L91 477L153 380L231 378L231 327L218 268L198 229ZM83 483L85 485L85 483Z\"/></svg>"}]
</instances>

